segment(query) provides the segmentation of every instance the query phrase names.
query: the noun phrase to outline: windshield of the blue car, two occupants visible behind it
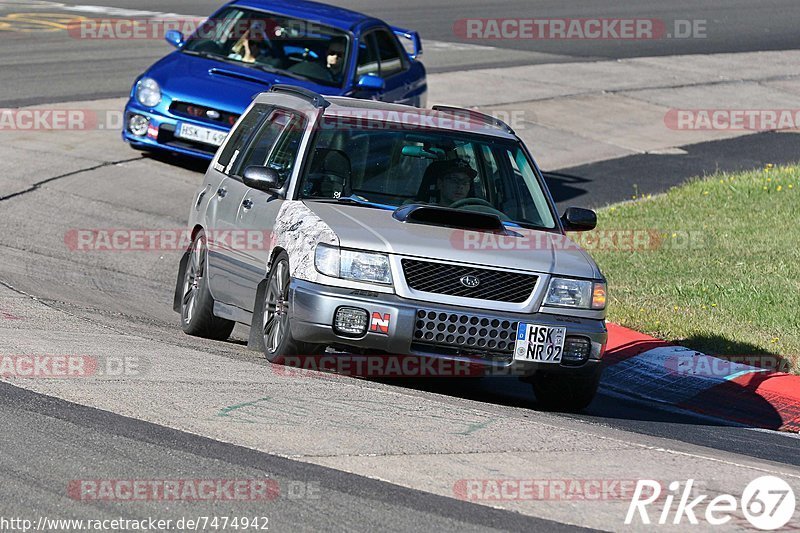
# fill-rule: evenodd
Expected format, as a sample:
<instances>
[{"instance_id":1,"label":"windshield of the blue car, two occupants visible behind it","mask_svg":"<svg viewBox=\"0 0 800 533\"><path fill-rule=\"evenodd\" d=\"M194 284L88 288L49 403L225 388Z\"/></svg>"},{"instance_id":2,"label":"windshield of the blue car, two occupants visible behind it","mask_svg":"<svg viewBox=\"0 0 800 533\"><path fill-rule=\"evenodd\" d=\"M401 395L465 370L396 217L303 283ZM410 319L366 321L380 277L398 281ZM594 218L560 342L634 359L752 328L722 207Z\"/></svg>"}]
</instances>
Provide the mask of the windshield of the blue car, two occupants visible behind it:
<instances>
[{"instance_id":1,"label":"windshield of the blue car, two occupants visible behind it","mask_svg":"<svg viewBox=\"0 0 800 533\"><path fill-rule=\"evenodd\" d=\"M205 21L183 51L342 87L348 43L345 32L315 22L230 8Z\"/></svg>"}]
</instances>

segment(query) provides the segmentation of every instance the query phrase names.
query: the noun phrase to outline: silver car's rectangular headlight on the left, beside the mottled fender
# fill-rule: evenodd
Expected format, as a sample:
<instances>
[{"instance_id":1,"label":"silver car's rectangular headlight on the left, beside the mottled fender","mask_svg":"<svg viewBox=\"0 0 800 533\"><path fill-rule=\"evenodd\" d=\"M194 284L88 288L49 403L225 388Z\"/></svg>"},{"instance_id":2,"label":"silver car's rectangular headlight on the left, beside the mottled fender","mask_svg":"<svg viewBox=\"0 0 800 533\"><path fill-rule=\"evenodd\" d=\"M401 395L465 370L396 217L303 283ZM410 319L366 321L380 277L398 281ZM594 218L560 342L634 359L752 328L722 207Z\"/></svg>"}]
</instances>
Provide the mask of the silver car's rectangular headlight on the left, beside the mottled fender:
<instances>
[{"instance_id":1,"label":"silver car's rectangular headlight on the left, beside the mottled fender","mask_svg":"<svg viewBox=\"0 0 800 533\"><path fill-rule=\"evenodd\" d=\"M392 283L389 256L386 254L357 252L318 244L314 253L314 266L321 274L332 278L385 285Z\"/></svg>"}]
</instances>

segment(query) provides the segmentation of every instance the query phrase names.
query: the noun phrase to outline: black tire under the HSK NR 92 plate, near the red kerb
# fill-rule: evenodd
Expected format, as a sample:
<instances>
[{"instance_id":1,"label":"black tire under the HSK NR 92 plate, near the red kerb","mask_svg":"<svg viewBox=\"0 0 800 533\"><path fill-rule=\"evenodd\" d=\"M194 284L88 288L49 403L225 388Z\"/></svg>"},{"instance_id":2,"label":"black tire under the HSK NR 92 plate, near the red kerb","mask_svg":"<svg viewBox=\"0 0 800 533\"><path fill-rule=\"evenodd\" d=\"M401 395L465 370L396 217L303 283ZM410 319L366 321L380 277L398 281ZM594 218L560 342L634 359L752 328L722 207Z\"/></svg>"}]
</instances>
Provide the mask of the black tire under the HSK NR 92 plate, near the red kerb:
<instances>
[{"instance_id":1,"label":"black tire under the HSK NR 92 plate, near the red kerb","mask_svg":"<svg viewBox=\"0 0 800 533\"><path fill-rule=\"evenodd\" d=\"M530 379L540 406L552 411L581 411L592 403L600 385L600 372L571 376L539 372Z\"/></svg>"}]
</instances>

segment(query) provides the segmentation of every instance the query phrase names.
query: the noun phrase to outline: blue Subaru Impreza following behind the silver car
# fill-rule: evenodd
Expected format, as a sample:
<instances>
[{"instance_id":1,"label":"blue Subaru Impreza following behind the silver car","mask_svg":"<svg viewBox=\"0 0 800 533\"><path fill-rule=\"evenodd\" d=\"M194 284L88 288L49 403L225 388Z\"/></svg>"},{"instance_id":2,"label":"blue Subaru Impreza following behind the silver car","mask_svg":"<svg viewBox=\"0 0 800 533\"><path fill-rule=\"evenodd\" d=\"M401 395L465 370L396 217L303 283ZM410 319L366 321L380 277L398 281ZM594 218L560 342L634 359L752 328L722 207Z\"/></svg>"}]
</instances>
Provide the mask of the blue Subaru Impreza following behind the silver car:
<instances>
[{"instance_id":1,"label":"blue Subaru Impreza following behind the silver car","mask_svg":"<svg viewBox=\"0 0 800 533\"><path fill-rule=\"evenodd\" d=\"M305 0L236 0L136 79L122 137L211 159L253 97L276 84L424 107L416 32ZM405 43L405 45L403 44Z\"/></svg>"}]
</instances>

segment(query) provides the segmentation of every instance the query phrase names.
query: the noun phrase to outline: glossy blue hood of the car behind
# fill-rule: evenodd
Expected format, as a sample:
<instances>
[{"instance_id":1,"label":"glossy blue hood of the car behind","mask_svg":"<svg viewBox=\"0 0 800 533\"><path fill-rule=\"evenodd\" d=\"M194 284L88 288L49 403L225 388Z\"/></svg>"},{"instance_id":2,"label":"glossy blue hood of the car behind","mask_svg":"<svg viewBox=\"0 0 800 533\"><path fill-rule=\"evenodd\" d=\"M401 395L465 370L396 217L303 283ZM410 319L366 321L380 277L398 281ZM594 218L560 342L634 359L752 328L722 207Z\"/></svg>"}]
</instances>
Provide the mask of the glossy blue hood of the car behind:
<instances>
[{"instance_id":1,"label":"glossy blue hood of the car behind","mask_svg":"<svg viewBox=\"0 0 800 533\"><path fill-rule=\"evenodd\" d=\"M179 51L161 59L145 73L171 100L242 113L253 98L275 84L290 84L318 93L338 94L332 87L271 74L227 61L215 61Z\"/></svg>"}]
</instances>

